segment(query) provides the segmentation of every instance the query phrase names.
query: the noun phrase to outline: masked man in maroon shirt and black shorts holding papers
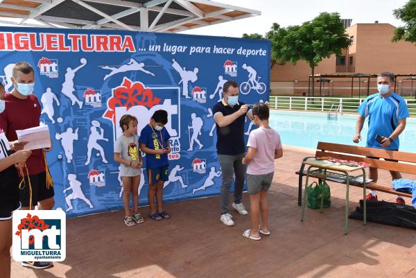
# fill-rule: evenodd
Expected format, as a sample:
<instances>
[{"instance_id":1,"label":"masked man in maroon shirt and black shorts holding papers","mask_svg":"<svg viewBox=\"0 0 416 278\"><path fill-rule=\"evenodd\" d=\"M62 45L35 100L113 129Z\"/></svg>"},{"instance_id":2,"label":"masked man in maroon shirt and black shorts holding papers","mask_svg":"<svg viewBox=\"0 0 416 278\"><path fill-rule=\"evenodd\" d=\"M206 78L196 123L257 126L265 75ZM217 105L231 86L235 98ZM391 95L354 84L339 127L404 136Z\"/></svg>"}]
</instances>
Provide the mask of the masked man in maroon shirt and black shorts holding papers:
<instances>
[{"instance_id":1,"label":"masked man in maroon shirt and black shorts holding papers","mask_svg":"<svg viewBox=\"0 0 416 278\"><path fill-rule=\"evenodd\" d=\"M6 108L0 114L0 126L6 133L10 146L17 151L24 147L25 142L17 141L16 130L33 128L40 124L41 107L33 92L35 76L33 67L27 62L18 62L13 67L11 78L14 89L4 96ZM24 188L19 190L21 209L29 209L38 205L38 209L49 210L55 205L53 186L46 182L45 150L32 150L26 161L26 168L19 169L24 175ZM30 182L30 185L29 185ZM30 191L31 187L31 191ZM30 204L32 200L32 204ZM23 266L32 268L48 268L50 262L23 262Z\"/></svg>"}]
</instances>

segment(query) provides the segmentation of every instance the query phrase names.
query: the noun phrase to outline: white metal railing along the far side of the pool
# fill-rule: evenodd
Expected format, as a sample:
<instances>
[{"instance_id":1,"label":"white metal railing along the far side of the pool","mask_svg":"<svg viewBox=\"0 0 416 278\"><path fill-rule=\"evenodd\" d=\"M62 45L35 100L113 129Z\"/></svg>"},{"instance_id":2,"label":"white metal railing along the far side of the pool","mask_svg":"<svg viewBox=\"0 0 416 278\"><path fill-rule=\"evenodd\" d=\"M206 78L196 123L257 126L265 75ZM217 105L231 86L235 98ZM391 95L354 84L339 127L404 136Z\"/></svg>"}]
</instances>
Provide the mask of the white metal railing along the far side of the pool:
<instances>
[{"instance_id":1,"label":"white metal railing along the far side of the pool","mask_svg":"<svg viewBox=\"0 0 416 278\"><path fill-rule=\"evenodd\" d=\"M272 109L329 112L338 105L338 111L354 113L365 98L333 98L304 96L270 96ZM406 99L410 115L416 116L416 100Z\"/></svg>"}]
</instances>

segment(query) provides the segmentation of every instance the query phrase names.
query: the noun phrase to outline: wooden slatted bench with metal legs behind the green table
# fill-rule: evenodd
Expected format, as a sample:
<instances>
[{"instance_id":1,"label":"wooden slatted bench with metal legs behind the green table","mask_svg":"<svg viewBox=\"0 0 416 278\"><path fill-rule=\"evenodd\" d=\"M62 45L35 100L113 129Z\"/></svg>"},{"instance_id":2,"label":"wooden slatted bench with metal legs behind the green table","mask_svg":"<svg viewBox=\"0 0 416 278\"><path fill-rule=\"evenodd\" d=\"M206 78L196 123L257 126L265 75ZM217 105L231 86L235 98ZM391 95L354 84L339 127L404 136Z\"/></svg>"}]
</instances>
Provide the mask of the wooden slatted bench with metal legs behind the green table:
<instances>
[{"instance_id":1,"label":"wooden slatted bench with metal legs behind the green table","mask_svg":"<svg viewBox=\"0 0 416 278\"><path fill-rule=\"evenodd\" d=\"M372 168L416 175L415 153L405 153L395 150L382 150L379 148L366 148L359 146L318 142L315 157L333 157L338 159L353 160L355 162L366 162L368 164L371 164ZM304 160L308 158L309 157L305 157ZM395 159L398 160L398 162L385 161L381 160L380 158ZM306 171L304 171L304 164L302 164L300 171L297 171L296 174L299 175L299 192L297 197L297 205L302 205L302 177L306 175ZM314 176L310 175L309 177ZM370 171L367 171L367 178L370 178ZM390 184L381 184L379 182L367 182L365 188L412 198L411 193L395 191L395 189L392 189L391 180L389 180L388 182L390 182ZM350 185L363 188L363 184Z\"/></svg>"}]
</instances>

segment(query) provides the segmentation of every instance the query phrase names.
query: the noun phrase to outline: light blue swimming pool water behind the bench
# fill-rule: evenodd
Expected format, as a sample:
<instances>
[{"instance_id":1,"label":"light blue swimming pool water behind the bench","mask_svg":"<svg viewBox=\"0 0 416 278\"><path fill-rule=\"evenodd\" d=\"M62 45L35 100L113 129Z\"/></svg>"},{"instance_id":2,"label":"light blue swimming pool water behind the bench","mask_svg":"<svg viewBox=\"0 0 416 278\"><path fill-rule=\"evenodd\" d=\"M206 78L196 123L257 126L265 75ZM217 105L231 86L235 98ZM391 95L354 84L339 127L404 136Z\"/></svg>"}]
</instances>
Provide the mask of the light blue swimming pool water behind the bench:
<instances>
[{"instance_id":1,"label":"light blue swimming pool water behind the bench","mask_svg":"<svg viewBox=\"0 0 416 278\"><path fill-rule=\"evenodd\" d=\"M338 120L328 119L327 113L270 111L270 126L279 132L281 143L304 148L316 148L318 141L338 144L365 146L367 140L367 119L365 120L359 144L352 142L356 132L357 115L338 114ZM399 150L416 153L416 119L408 118L406 129L399 136Z\"/></svg>"}]
</instances>

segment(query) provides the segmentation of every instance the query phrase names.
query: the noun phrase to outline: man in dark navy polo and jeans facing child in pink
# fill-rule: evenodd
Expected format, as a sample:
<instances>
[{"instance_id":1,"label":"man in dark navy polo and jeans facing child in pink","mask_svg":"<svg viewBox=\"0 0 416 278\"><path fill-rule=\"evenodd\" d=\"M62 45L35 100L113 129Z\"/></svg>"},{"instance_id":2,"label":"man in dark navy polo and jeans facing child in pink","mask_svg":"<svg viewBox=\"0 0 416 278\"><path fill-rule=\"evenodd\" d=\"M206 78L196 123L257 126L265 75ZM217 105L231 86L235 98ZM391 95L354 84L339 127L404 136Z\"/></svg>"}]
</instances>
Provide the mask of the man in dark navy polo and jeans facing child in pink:
<instances>
[{"instance_id":1,"label":"man in dark navy polo and jeans facing child in pink","mask_svg":"<svg viewBox=\"0 0 416 278\"><path fill-rule=\"evenodd\" d=\"M217 153L223 172L221 185L221 217L220 220L227 226L234 225L232 215L229 214L229 189L234 182L234 202L232 207L239 214L247 215L248 211L241 202L243 198L243 186L247 166L242 163L245 157L244 122L245 116L252 119L248 105L239 101L239 85L234 81L227 81L223 86L223 100L213 108L214 121L216 122Z\"/></svg>"}]
</instances>

